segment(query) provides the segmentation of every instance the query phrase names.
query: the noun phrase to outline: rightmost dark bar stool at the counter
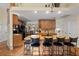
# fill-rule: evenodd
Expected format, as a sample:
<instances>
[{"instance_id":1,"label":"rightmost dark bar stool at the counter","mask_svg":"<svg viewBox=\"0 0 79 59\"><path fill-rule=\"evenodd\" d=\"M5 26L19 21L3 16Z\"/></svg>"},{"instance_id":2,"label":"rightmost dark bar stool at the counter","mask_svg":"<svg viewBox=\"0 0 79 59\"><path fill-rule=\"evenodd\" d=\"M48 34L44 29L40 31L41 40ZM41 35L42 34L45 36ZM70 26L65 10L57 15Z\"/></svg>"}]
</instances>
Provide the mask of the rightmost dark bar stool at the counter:
<instances>
[{"instance_id":1,"label":"rightmost dark bar stool at the counter","mask_svg":"<svg viewBox=\"0 0 79 59\"><path fill-rule=\"evenodd\" d=\"M74 55L76 55L77 39L78 37L76 38L69 37L69 42L64 42L64 45L67 46L67 55L71 55L71 47L74 48L75 51Z\"/></svg>"}]
</instances>

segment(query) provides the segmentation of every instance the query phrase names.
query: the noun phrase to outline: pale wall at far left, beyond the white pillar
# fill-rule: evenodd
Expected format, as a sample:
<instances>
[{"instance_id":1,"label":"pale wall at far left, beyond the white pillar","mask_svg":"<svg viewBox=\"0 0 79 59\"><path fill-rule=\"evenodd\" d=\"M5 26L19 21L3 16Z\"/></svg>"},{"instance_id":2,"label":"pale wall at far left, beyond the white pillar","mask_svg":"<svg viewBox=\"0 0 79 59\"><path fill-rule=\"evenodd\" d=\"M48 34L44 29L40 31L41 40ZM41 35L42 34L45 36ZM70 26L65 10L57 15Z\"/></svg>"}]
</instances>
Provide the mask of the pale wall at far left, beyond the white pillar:
<instances>
[{"instance_id":1,"label":"pale wall at far left, beyond the white pillar","mask_svg":"<svg viewBox=\"0 0 79 59\"><path fill-rule=\"evenodd\" d=\"M0 3L0 42L8 39L7 8L8 8L8 4Z\"/></svg>"}]
</instances>

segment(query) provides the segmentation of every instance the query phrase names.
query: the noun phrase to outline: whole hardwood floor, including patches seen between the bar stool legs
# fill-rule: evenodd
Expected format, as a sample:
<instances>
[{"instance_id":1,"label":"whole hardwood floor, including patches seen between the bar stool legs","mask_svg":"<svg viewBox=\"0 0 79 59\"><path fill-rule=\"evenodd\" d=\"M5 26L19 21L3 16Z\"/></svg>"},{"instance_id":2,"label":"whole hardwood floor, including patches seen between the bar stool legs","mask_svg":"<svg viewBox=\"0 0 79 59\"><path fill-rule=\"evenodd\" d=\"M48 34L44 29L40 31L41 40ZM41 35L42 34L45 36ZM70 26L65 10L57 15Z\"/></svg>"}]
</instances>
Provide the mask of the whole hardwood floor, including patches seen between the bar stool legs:
<instances>
[{"instance_id":1,"label":"whole hardwood floor, including patches seen between the bar stool legs","mask_svg":"<svg viewBox=\"0 0 79 59\"><path fill-rule=\"evenodd\" d=\"M42 46L40 47L40 51L42 52ZM35 48L36 50L37 48ZM77 56L79 56L79 48L77 49ZM38 49L37 49L38 50ZM42 55L42 53L40 52L40 55ZM74 52L74 50L72 49L72 52ZM28 51L24 52L24 45L19 46L19 47L15 47L14 50L9 50L6 42L2 42L0 43L0 56L28 56L27 55ZM49 52L45 52L45 54L48 54ZM25 55L24 55L25 54ZM34 55L38 55L38 52L33 53Z\"/></svg>"}]
</instances>

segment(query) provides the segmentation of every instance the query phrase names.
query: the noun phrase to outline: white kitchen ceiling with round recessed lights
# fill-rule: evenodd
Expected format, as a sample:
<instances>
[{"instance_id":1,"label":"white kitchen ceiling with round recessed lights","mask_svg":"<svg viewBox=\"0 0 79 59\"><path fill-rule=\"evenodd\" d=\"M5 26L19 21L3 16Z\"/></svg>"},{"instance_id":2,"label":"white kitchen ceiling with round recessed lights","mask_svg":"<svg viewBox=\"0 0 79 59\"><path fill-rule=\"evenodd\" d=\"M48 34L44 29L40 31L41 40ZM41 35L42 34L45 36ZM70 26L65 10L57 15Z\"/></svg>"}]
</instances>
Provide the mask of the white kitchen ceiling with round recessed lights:
<instances>
[{"instance_id":1,"label":"white kitchen ceiling with round recessed lights","mask_svg":"<svg viewBox=\"0 0 79 59\"><path fill-rule=\"evenodd\" d=\"M53 18L62 18L65 16L79 14L79 4L63 4L60 8L54 8L53 12L47 12L46 10L38 10L37 13L34 13L34 10L13 10L13 12L19 14L19 18L22 20L36 21L39 19L53 19ZM69 6L73 6L72 8ZM76 7L75 7L76 6ZM66 9L65 9L66 8ZM42 8L41 8L42 9ZM63 9L63 10L61 10ZM59 13L59 11L61 11Z\"/></svg>"}]
</instances>

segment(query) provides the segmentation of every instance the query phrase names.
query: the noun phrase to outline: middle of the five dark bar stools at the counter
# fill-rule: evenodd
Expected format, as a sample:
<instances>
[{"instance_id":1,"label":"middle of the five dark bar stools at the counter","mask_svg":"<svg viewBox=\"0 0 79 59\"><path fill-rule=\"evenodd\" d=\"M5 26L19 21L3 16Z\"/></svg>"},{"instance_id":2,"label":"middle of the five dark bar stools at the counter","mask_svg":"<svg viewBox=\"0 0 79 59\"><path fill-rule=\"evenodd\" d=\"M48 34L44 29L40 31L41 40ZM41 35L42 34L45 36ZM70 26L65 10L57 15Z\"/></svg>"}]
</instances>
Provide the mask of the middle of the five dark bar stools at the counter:
<instances>
[{"instance_id":1,"label":"middle of the five dark bar stools at the counter","mask_svg":"<svg viewBox=\"0 0 79 59\"><path fill-rule=\"evenodd\" d=\"M45 51L48 51L49 52L49 56L51 56L51 49L52 49L52 38L45 38L45 41L43 43L43 53ZM46 48L48 48L48 50L46 50Z\"/></svg>"}]
</instances>

